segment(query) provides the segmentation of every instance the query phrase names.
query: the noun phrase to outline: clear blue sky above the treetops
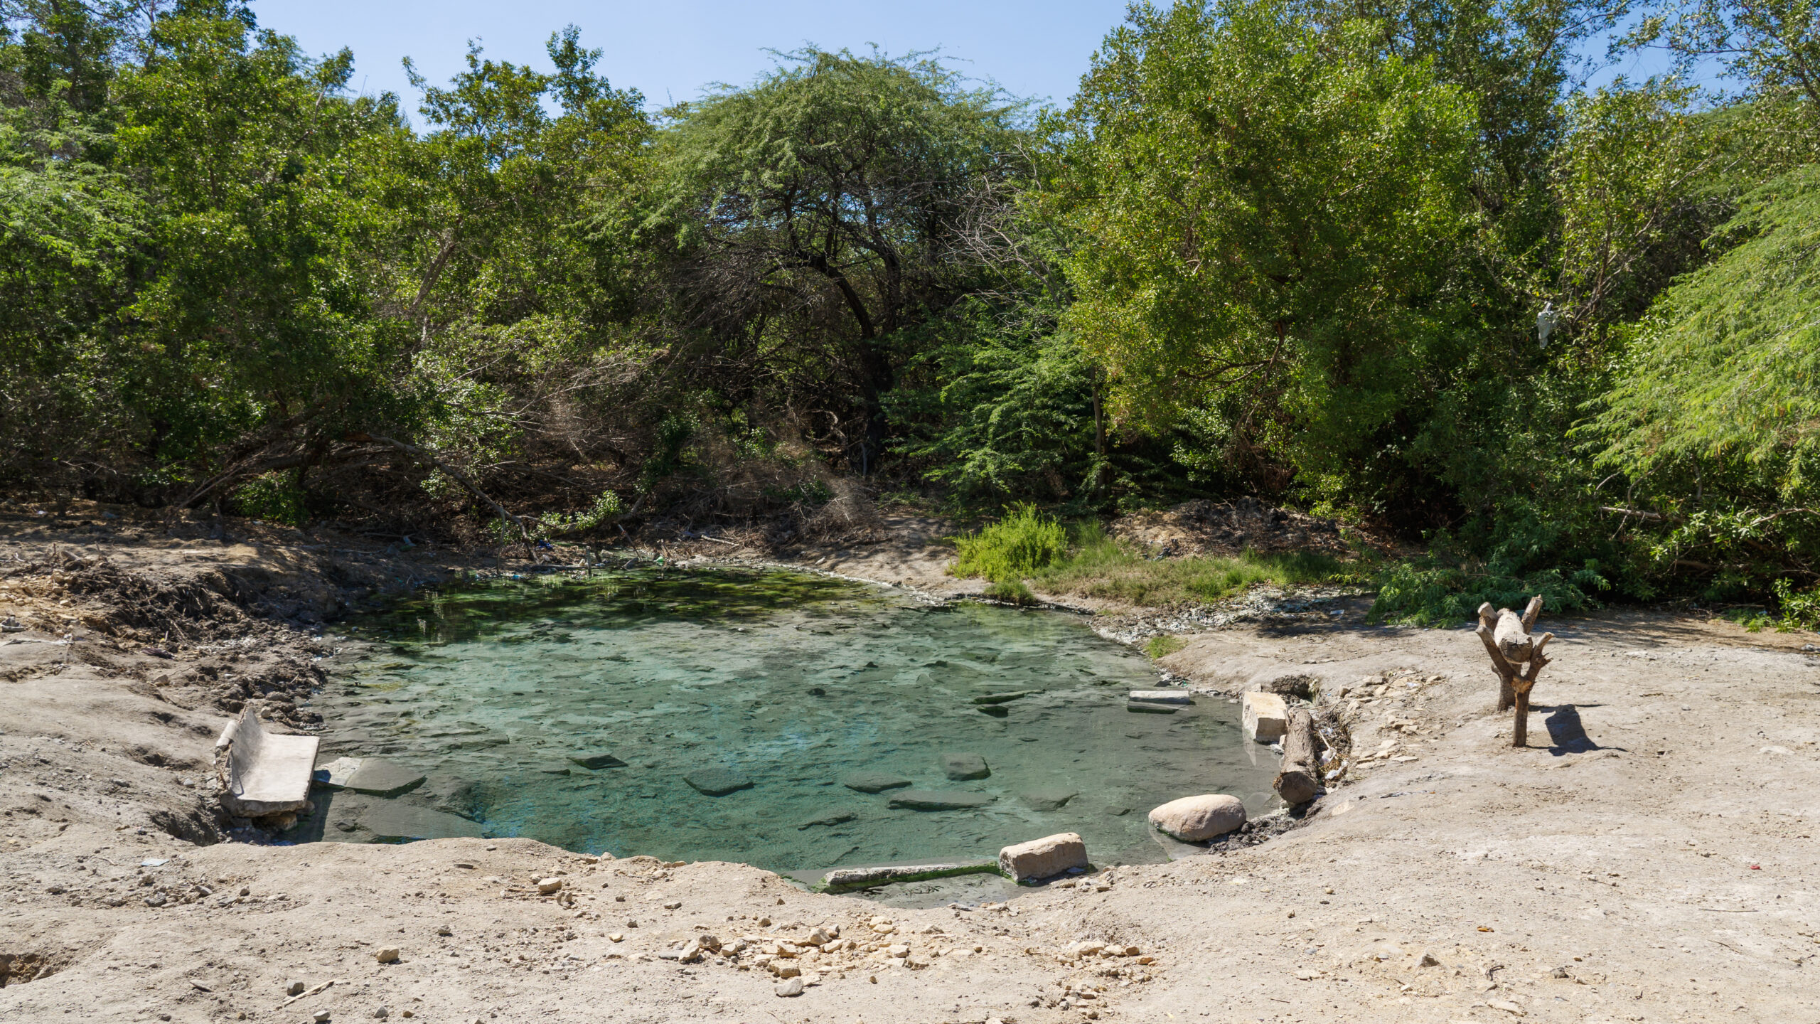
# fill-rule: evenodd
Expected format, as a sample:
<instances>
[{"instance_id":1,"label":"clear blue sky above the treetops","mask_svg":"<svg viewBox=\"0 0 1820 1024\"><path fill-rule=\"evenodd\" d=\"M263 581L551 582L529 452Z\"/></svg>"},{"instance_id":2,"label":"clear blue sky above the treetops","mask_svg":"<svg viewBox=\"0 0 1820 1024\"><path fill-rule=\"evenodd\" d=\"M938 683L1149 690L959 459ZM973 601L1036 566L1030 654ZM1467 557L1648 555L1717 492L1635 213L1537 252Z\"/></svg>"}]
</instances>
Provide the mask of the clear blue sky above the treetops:
<instances>
[{"instance_id":1,"label":"clear blue sky above the treetops","mask_svg":"<svg viewBox=\"0 0 1820 1024\"><path fill-rule=\"evenodd\" d=\"M855 51L877 44L894 55L939 47L966 75L1065 104L1094 47L1125 18L1125 0L253 0L253 11L260 26L297 36L308 53L353 47L353 87L391 89L408 111L419 95L400 58L446 82L475 38L490 56L548 69L544 40L568 24L604 51L599 69L613 86L637 87L653 106L695 98L713 82L746 84L772 67L766 49L804 42ZM1587 49L1603 56L1603 46ZM1594 80L1660 69L1662 60L1636 55Z\"/></svg>"}]
</instances>

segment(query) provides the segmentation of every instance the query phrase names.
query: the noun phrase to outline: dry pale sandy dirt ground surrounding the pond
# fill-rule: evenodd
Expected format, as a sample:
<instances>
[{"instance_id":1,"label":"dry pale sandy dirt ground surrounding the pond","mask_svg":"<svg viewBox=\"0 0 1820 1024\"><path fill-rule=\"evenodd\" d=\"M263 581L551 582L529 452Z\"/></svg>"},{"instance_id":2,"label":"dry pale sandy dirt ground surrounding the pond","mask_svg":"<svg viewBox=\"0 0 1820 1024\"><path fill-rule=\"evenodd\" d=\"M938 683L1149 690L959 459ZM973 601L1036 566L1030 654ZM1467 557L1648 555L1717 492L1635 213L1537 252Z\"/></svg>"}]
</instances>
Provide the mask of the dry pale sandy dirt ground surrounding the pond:
<instances>
[{"instance_id":1,"label":"dry pale sandy dirt ground surrounding the pond","mask_svg":"<svg viewBox=\"0 0 1820 1024\"><path fill-rule=\"evenodd\" d=\"M218 842L235 701L311 727L320 620L493 563L31 512L0 516L0 1022L1820 1020L1811 634L1545 614L1525 749L1465 629L1341 599L1190 634L1165 665L1198 700L1305 676L1350 723L1309 824L901 909L530 840ZM801 559L957 589L939 523L895 530Z\"/></svg>"}]
</instances>

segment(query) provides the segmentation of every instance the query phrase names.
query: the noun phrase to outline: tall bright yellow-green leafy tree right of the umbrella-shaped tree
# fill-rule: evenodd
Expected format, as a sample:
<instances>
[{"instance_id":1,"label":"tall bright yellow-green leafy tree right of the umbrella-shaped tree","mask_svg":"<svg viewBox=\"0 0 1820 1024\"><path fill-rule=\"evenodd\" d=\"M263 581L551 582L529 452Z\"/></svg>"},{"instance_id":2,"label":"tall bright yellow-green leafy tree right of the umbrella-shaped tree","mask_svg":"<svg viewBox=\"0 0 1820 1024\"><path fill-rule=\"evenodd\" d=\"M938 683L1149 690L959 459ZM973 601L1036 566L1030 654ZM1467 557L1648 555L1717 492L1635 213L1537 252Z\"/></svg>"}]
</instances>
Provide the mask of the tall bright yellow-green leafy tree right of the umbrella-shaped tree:
<instances>
[{"instance_id":1,"label":"tall bright yellow-green leafy tree right of the umbrella-shaped tree","mask_svg":"<svg viewBox=\"0 0 1820 1024\"><path fill-rule=\"evenodd\" d=\"M1134 9L1061 126L1063 323L1125 417L1334 474L1456 361L1472 102L1370 22L1269 0Z\"/></svg>"}]
</instances>

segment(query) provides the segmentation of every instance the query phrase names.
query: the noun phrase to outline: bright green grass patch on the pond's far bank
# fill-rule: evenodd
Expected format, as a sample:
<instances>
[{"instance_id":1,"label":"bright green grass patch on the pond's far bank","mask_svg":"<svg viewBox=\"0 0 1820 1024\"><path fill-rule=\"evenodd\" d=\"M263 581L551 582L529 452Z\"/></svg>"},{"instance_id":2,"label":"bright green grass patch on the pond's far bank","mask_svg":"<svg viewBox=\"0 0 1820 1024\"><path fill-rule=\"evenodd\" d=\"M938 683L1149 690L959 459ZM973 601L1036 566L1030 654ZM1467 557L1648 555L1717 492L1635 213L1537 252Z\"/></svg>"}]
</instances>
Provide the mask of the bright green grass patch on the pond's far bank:
<instances>
[{"instance_id":1,"label":"bright green grass patch on the pond's far bank","mask_svg":"<svg viewBox=\"0 0 1820 1024\"><path fill-rule=\"evenodd\" d=\"M1358 567L1309 552L1152 559L1108 538L1097 521L1065 527L1028 505L954 541L959 558L952 572L992 579L986 594L1006 601L1028 596L1026 581L1048 594L1172 607L1218 601L1256 583L1292 587L1360 578Z\"/></svg>"}]
</instances>

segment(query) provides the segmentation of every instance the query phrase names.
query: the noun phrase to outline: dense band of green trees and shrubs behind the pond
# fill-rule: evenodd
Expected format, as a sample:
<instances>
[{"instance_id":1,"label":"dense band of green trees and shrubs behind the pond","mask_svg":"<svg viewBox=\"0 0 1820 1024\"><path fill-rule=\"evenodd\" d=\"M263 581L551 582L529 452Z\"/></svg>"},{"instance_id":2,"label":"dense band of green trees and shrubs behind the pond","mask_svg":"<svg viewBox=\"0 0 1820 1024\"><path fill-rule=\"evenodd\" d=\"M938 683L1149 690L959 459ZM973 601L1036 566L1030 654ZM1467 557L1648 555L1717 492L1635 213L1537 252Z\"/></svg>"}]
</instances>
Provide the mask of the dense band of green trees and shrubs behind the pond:
<instances>
[{"instance_id":1,"label":"dense band of green trees and shrubs behind the pond","mask_svg":"<svg viewBox=\"0 0 1820 1024\"><path fill-rule=\"evenodd\" d=\"M1731 91L1583 87L1618 26ZM1059 108L806 47L655 109L566 27L408 111L244 4L0 0L0 488L513 543L870 494L1030 508L1005 587L1809 621L1816 66L1793 2L1198 0ZM1061 527L1236 496L1427 554Z\"/></svg>"}]
</instances>

